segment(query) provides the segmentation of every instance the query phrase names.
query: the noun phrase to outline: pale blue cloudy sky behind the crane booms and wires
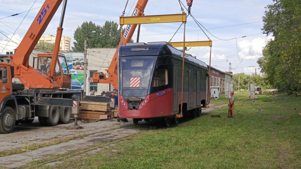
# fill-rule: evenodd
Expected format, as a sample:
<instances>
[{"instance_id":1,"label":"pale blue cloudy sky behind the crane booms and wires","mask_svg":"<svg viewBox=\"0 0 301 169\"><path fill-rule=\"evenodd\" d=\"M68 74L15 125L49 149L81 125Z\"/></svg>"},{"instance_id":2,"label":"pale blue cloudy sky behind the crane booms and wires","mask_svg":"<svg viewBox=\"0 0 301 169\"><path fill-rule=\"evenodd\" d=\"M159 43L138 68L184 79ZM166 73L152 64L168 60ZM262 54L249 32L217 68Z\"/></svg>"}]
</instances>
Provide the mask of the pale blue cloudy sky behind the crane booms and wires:
<instances>
[{"instance_id":1,"label":"pale blue cloudy sky behind the crane booms and wires","mask_svg":"<svg viewBox=\"0 0 301 169\"><path fill-rule=\"evenodd\" d=\"M181 0L186 6L186 1ZM0 18L12 14L24 12L42 6L43 0L0 0ZM125 15L131 15L137 0L129 0ZM194 0L191 14L201 23L210 33L205 33L213 41L211 65L222 71L229 70L231 63L232 72L245 72L251 74L258 73L259 67L256 63L257 58L262 56L262 47L268 39L260 30L262 28L262 16L265 7L272 4L272 0ZM92 21L98 25L103 25L106 20L119 22L126 0L69 0L64 20L63 36L73 38L75 29L85 21ZM62 6L62 5L61 5ZM132 8L132 9L131 9ZM0 31L6 36L11 37L15 28L19 30L14 34L12 40L19 42L29 28L40 8L33 9L14 17L0 19ZM145 15L158 14L178 14L181 8L178 0L149 0L145 8ZM61 7L58 9L44 36L56 34L61 15ZM246 24L248 23L248 24ZM140 42L169 41L181 23L157 23L141 25ZM236 25L236 26L233 26ZM15 28L14 28L15 27ZM136 41L137 33L132 37ZM215 37L214 37L215 36ZM243 36L246 36L242 38ZM6 37L0 33L0 51L7 44ZM219 40L224 39L224 40ZM226 39L232 39L225 41ZM72 39L73 40L73 39ZM188 17L186 24L186 41L206 41L206 35L199 26ZM172 41L183 41L183 26L172 38ZM5 51L11 51L17 45L9 42ZM209 47L192 47L187 53L197 56L198 59L209 64Z\"/></svg>"}]
</instances>

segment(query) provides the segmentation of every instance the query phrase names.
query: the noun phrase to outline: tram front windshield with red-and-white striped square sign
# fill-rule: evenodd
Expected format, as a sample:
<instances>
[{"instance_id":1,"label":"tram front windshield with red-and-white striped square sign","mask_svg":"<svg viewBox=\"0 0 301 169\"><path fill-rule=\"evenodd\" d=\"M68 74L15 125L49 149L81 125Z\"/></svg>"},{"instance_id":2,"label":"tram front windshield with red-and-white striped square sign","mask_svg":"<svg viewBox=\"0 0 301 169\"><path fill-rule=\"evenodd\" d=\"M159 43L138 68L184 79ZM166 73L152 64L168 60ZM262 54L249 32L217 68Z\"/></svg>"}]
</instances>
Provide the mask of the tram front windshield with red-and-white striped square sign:
<instances>
[{"instance_id":1,"label":"tram front windshield with red-and-white striped square sign","mask_svg":"<svg viewBox=\"0 0 301 169\"><path fill-rule=\"evenodd\" d=\"M119 60L121 95L141 98L147 95L156 58L154 56L129 56Z\"/></svg>"}]
</instances>

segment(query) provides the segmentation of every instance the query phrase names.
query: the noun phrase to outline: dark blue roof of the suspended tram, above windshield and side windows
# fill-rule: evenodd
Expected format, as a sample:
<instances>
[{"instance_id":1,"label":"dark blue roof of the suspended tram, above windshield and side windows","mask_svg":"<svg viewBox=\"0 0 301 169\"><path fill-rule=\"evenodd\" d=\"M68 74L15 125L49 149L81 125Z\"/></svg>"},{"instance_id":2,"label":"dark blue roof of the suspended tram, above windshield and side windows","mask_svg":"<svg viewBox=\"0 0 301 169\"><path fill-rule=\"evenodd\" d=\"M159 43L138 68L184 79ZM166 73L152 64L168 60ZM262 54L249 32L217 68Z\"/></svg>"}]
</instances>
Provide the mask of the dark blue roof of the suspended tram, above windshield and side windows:
<instances>
[{"instance_id":1,"label":"dark blue roof of the suspended tram, above windshield and side windows","mask_svg":"<svg viewBox=\"0 0 301 169\"><path fill-rule=\"evenodd\" d=\"M121 46L119 48L119 57L125 56L164 56L164 55L173 55L178 58L183 58L183 52L172 47L168 44L159 44L159 45L129 45ZM192 57L190 54L185 53L185 60L200 65L205 69L208 69L205 62L198 60L197 58Z\"/></svg>"}]
</instances>

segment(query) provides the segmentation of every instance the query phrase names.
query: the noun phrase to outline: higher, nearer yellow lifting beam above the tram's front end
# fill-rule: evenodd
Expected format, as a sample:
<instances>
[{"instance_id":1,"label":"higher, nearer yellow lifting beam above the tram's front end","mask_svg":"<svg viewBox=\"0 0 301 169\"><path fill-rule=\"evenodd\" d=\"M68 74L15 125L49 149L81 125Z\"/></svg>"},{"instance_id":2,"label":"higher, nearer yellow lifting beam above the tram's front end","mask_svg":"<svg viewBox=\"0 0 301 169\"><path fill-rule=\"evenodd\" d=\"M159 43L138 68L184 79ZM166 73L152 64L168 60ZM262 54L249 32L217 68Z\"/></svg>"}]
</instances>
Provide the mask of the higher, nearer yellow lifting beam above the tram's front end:
<instances>
[{"instance_id":1,"label":"higher, nearer yellow lifting beam above the tram's front end","mask_svg":"<svg viewBox=\"0 0 301 169\"><path fill-rule=\"evenodd\" d=\"M127 24L144 24L144 23L167 23L167 22L183 22L186 23L186 13L169 14L169 15L149 15L136 17L119 17L120 25Z\"/></svg>"}]
</instances>

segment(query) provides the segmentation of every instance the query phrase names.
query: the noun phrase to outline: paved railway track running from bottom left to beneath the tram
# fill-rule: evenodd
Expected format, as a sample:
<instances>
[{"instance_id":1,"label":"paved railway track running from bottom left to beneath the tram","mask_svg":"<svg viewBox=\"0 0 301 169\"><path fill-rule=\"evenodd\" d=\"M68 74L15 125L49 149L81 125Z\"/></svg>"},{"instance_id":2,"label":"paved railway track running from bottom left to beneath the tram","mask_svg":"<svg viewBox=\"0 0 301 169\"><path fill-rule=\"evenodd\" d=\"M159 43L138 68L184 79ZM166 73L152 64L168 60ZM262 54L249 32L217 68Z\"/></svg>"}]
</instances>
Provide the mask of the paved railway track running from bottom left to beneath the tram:
<instances>
[{"instance_id":1,"label":"paved railway track running from bottom left to beneath the tram","mask_svg":"<svg viewBox=\"0 0 301 169\"><path fill-rule=\"evenodd\" d=\"M203 111L203 113L207 114L207 112L209 112L210 110L219 109L223 106L225 105L211 107ZM182 120L182 122L189 121L189 119L190 118L185 118ZM114 145L114 143L118 143L122 140L136 137L147 132L151 132L154 129L161 130L163 129L163 127L162 125L154 125L148 122L141 122L139 123L139 125L130 125L106 131L95 131L85 134L85 137L79 137L78 139L70 140L66 143L43 147L31 152L24 152L1 157L0 166L4 168L38 168L44 165L54 165L62 161L62 159L72 158L77 155L85 155L89 152L97 152L99 151L98 149L102 147ZM95 146L95 142L100 142L101 144ZM73 153L70 154L70 152ZM26 166L26 164L31 161L46 160L53 155L60 155L60 157L54 159L51 158L51 160L44 161L43 163L37 164L35 166Z\"/></svg>"}]
</instances>

